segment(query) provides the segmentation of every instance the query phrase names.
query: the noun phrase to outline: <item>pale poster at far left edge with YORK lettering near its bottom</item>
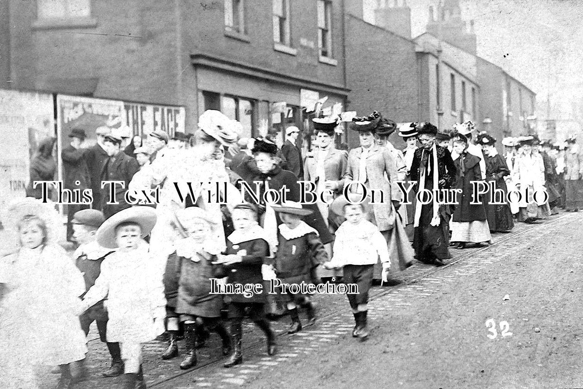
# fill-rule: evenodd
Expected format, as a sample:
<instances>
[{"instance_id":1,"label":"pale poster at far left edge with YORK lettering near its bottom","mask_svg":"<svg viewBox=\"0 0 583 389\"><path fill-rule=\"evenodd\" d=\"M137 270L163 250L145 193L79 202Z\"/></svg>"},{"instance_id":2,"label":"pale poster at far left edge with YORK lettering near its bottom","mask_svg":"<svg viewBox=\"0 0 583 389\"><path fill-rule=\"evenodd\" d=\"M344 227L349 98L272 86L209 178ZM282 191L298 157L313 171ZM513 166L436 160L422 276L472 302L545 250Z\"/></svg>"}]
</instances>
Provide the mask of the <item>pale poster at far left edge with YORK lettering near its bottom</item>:
<instances>
[{"instance_id":1,"label":"pale poster at far left edge with YORK lettering near its bottom","mask_svg":"<svg viewBox=\"0 0 583 389\"><path fill-rule=\"evenodd\" d=\"M55 135L51 94L0 90L0 210L26 196L30 161Z\"/></svg>"}]
</instances>

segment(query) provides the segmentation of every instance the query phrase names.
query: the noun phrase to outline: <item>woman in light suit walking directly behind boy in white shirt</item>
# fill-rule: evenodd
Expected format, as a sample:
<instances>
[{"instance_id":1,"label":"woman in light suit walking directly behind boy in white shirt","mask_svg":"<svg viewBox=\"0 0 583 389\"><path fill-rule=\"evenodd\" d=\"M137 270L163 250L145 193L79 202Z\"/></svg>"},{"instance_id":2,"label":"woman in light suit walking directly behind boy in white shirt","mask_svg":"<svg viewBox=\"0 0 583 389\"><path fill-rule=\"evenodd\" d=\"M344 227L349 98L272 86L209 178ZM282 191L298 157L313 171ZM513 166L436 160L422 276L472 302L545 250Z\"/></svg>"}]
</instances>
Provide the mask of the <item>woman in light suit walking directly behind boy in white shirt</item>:
<instances>
[{"instance_id":1,"label":"woman in light suit walking directly behind boy in white shirt","mask_svg":"<svg viewBox=\"0 0 583 389\"><path fill-rule=\"evenodd\" d=\"M363 186L371 196L375 190L371 222L375 224L387 240L391 269L404 270L413 263L413 247L405 233L395 208L401 205L403 195L394 183L398 179L396 162L386 147L379 147L374 142L375 130L382 126L381 115L374 112L366 118L356 118L352 129L359 132L360 147L353 148L348 154L348 167L345 186L350 182L349 192L362 193ZM381 193L384 198L381 198ZM380 278L380 266L375 268L375 277Z\"/></svg>"}]
</instances>

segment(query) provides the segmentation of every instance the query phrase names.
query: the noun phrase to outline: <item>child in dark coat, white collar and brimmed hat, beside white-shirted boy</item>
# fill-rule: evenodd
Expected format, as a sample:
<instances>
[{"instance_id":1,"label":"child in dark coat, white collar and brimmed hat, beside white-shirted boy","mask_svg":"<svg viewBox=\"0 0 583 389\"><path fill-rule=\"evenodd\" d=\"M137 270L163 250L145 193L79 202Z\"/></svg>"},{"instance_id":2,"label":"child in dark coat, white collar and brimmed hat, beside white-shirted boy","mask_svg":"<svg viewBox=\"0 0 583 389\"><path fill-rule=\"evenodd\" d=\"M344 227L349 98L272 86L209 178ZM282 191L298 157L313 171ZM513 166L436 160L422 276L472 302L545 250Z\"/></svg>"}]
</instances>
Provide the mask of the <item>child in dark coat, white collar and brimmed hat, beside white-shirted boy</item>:
<instances>
[{"instance_id":1,"label":"child in dark coat, white collar and brimmed hat, beside white-shirted boy","mask_svg":"<svg viewBox=\"0 0 583 389\"><path fill-rule=\"evenodd\" d=\"M273 205L273 210L279 213L283 224L280 224L278 234L278 252L275 257L275 269L284 284L301 285L312 282L312 270L319 264L328 261L328 253L320 241L318 232L305 224L302 218L312 213L304 209L300 203L287 201L282 205ZM282 295L287 311L291 317L288 334L301 330L301 321L297 306L306 310L308 323L315 321L314 305L311 296L303 293L287 291Z\"/></svg>"}]
</instances>

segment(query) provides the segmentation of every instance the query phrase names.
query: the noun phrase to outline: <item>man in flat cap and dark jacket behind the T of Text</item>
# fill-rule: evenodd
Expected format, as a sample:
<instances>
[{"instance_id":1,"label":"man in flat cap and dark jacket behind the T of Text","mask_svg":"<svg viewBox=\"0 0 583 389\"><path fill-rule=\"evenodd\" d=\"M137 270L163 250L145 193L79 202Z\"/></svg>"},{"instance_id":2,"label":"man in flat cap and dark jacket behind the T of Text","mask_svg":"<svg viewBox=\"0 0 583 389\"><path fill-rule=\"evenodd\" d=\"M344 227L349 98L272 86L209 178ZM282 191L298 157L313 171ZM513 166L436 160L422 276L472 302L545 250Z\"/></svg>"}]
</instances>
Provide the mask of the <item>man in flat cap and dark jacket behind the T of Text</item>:
<instances>
[{"instance_id":1,"label":"man in flat cap and dark jacket behind the T of Text","mask_svg":"<svg viewBox=\"0 0 583 389\"><path fill-rule=\"evenodd\" d=\"M105 185L101 189L103 214L109 218L111 215L130 207L130 204L125 201L124 195L128 190L129 182L132 181L132 177L140 169L140 166L136 158L129 157L121 150L120 136L107 135L104 145L109 158L101 172L101 181L123 181L125 184L124 188L115 185L115 201L119 204L107 204L108 201L114 200L110 199L110 187L114 185L113 183Z\"/></svg>"}]
</instances>

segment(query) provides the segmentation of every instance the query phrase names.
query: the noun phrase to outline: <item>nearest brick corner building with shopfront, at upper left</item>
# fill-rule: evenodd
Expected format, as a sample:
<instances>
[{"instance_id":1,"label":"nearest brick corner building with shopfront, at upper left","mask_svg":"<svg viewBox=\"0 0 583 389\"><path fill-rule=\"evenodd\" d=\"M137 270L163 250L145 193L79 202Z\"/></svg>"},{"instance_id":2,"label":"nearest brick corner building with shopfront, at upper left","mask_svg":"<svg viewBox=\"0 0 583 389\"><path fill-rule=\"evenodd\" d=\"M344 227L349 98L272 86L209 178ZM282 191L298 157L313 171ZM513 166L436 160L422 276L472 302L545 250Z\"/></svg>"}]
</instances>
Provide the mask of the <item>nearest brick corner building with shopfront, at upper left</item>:
<instances>
[{"instance_id":1,"label":"nearest brick corner building with shopfront, at upper left","mask_svg":"<svg viewBox=\"0 0 583 389\"><path fill-rule=\"evenodd\" d=\"M9 0L2 87L184 105L190 131L209 108L246 136L302 126L318 98L346 105L342 4Z\"/></svg>"}]
</instances>

